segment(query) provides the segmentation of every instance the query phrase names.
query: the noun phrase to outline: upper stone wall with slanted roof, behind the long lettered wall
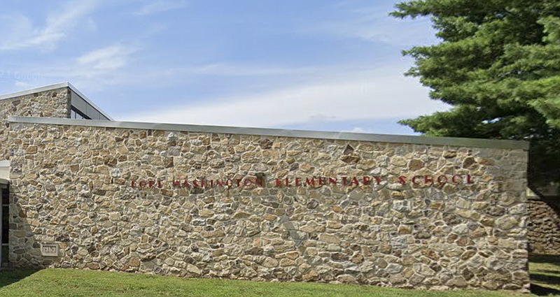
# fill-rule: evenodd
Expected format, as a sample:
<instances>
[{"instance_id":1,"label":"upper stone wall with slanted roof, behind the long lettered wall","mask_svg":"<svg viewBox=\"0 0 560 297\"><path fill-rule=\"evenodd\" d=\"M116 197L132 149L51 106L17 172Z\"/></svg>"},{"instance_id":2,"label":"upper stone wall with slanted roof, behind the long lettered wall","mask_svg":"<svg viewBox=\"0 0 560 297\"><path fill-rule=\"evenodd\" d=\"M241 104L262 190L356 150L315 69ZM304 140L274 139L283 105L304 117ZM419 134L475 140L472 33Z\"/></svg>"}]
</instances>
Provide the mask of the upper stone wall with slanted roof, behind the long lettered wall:
<instances>
[{"instance_id":1,"label":"upper stone wall with slanted roof, behind the long lettered wall","mask_svg":"<svg viewBox=\"0 0 560 297\"><path fill-rule=\"evenodd\" d=\"M8 117L70 117L70 90L53 89L25 96L0 100L0 161L10 159Z\"/></svg>"}]
</instances>

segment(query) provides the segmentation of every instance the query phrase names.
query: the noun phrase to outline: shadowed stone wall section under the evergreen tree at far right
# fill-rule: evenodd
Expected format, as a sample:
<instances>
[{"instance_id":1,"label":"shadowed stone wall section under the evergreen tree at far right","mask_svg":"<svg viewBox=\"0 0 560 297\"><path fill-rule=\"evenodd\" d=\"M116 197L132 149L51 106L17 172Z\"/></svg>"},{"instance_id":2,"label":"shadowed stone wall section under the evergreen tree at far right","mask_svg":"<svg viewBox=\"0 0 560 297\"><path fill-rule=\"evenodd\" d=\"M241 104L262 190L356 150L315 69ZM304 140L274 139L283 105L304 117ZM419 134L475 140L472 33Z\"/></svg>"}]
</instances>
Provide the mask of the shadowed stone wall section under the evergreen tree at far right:
<instances>
[{"instance_id":1,"label":"shadowed stone wall section under the evergreen tree at far right","mask_svg":"<svg viewBox=\"0 0 560 297\"><path fill-rule=\"evenodd\" d=\"M560 198L528 199L527 237L531 254L560 254Z\"/></svg>"}]
</instances>

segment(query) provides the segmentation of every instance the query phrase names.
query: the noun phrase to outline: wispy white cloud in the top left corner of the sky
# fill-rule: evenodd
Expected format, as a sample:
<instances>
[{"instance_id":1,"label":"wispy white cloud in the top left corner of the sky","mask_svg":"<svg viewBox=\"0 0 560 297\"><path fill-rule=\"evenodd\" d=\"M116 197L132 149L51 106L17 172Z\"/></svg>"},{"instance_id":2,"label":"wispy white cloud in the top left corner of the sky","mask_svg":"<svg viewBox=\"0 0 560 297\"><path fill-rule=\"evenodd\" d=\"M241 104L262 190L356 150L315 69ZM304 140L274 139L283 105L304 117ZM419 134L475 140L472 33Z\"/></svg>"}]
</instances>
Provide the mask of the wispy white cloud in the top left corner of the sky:
<instances>
[{"instance_id":1,"label":"wispy white cloud in the top left corner of the sky","mask_svg":"<svg viewBox=\"0 0 560 297\"><path fill-rule=\"evenodd\" d=\"M42 26L34 27L25 15L2 15L0 20L0 50L40 47L52 50L78 22L97 7L99 0L70 1L62 11L51 13Z\"/></svg>"}]
</instances>

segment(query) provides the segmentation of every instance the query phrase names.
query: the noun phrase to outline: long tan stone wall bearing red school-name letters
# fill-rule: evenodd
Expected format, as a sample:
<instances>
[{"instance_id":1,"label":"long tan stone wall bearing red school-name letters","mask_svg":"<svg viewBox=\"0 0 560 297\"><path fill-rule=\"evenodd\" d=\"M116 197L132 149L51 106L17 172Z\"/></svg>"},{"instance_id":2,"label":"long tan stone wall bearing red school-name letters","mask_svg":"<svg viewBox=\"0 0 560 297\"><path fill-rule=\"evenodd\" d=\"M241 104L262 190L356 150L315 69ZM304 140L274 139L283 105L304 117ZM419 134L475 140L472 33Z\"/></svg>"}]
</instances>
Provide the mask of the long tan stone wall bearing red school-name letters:
<instances>
[{"instance_id":1,"label":"long tan stone wall bearing red school-name letters","mask_svg":"<svg viewBox=\"0 0 560 297\"><path fill-rule=\"evenodd\" d=\"M528 289L524 150L10 127L15 267ZM471 175L472 184L401 184L398 175ZM304 184L343 176L383 181ZM193 182L223 178L240 182ZM59 257L41 256L40 242L59 242Z\"/></svg>"}]
</instances>

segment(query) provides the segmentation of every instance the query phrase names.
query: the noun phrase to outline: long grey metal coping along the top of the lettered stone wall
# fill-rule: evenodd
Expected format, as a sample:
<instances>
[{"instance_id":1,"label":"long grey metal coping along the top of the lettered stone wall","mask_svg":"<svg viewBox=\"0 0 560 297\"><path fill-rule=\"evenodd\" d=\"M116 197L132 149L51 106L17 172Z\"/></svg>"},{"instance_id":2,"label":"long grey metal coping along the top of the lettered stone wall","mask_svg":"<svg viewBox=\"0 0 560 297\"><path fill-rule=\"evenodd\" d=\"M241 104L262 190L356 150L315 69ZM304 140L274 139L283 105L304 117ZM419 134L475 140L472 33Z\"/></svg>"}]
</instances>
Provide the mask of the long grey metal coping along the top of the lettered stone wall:
<instances>
[{"instance_id":1,"label":"long grey metal coping along the top of the lettered stone wall","mask_svg":"<svg viewBox=\"0 0 560 297\"><path fill-rule=\"evenodd\" d=\"M418 145L451 145L456 147L485 147L528 150L529 143L523 140L490 140L478 138L405 136L389 134L326 132L307 130L284 130L268 128L244 128L234 126L200 126L192 124L163 124L148 122L117 122L93 119L60 119L54 117L8 117L8 122L22 124L52 124L68 126L92 126L123 129L153 129L198 133L243 134L255 136L318 138L332 140L358 140L380 143L409 143Z\"/></svg>"}]
</instances>

